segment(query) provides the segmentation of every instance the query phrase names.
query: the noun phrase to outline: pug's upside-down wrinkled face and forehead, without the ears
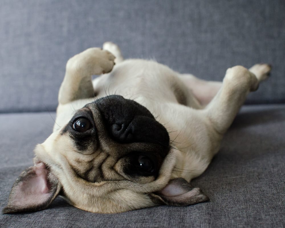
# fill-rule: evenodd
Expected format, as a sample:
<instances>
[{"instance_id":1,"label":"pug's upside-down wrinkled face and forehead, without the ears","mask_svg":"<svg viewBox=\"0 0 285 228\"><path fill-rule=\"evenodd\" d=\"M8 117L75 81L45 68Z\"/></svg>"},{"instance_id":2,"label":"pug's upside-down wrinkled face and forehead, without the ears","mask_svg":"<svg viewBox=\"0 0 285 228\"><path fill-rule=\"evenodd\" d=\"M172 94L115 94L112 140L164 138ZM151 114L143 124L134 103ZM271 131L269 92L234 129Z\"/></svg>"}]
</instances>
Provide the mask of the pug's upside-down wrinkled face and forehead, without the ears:
<instances>
[{"instance_id":1,"label":"pug's upside-down wrinkled face and forehead, without the ears","mask_svg":"<svg viewBox=\"0 0 285 228\"><path fill-rule=\"evenodd\" d=\"M168 174L158 176L169 148L166 129L148 109L112 95L77 111L66 126L36 148L35 163L46 165L62 186L60 194L76 207L121 212L156 204L146 194L167 184L174 159L165 164ZM90 184L103 189L105 182L111 190L108 187L100 196L97 189L85 195Z\"/></svg>"}]
</instances>

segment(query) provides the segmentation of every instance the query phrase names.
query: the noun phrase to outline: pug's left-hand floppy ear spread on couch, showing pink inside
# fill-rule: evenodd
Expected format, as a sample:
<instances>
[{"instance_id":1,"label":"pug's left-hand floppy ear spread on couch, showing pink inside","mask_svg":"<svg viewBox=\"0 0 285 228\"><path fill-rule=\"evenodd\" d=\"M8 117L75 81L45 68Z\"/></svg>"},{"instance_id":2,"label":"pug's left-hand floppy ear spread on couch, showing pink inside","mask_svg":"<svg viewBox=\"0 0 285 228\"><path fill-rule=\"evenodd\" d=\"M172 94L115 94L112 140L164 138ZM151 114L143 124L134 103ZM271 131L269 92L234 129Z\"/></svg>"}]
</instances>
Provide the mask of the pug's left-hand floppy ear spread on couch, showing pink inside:
<instances>
[{"instance_id":1,"label":"pug's left-hand floppy ear spread on couch, showing pink inside","mask_svg":"<svg viewBox=\"0 0 285 228\"><path fill-rule=\"evenodd\" d=\"M56 198L60 184L52 178L45 164L40 162L24 170L15 181L8 205L2 213L39 211Z\"/></svg>"}]
</instances>

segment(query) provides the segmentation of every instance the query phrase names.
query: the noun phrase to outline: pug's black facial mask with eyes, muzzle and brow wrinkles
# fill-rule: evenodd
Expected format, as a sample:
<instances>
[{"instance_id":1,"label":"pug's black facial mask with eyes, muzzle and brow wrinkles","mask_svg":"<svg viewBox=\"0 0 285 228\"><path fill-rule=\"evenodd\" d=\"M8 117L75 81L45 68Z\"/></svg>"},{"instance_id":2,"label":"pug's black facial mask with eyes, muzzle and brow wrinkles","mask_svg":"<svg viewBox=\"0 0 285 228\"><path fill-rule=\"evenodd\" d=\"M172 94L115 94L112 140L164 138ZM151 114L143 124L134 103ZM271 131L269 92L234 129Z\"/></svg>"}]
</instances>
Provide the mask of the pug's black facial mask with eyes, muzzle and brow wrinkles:
<instances>
[{"instance_id":1,"label":"pug's black facial mask with eyes, muzzle and brow wrinkles","mask_svg":"<svg viewBox=\"0 0 285 228\"><path fill-rule=\"evenodd\" d=\"M79 110L60 136L69 138L70 167L88 182L154 181L169 152L168 133L154 116L116 95Z\"/></svg>"}]
</instances>

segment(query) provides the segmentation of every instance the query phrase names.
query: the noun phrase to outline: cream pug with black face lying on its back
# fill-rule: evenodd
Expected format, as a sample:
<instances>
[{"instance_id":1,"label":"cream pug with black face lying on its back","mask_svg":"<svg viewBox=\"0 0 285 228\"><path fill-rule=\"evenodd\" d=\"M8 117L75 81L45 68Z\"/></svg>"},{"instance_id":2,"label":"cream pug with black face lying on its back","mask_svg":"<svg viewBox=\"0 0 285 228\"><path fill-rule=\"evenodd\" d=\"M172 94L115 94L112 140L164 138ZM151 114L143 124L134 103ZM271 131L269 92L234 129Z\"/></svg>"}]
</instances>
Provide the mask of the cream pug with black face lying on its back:
<instances>
[{"instance_id":1,"label":"cream pug with black face lying on its back","mask_svg":"<svg viewBox=\"0 0 285 228\"><path fill-rule=\"evenodd\" d=\"M85 50L68 60L53 133L36 146L34 166L16 180L3 213L42 210L58 195L97 213L207 201L189 182L269 71L235 66L223 83L206 82L123 60L111 42Z\"/></svg>"}]
</instances>

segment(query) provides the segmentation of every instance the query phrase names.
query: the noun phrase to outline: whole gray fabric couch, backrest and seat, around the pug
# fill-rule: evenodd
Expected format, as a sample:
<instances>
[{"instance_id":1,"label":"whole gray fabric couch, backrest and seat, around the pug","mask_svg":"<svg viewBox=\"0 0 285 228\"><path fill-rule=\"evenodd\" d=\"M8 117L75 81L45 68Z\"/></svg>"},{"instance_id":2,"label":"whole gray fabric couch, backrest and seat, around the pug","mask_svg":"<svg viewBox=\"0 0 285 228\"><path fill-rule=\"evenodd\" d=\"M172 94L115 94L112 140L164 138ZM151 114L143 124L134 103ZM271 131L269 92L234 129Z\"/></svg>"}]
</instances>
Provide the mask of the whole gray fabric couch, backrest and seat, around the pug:
<instances>
[{"instance_id":1,"label":"whole gray fabric couch, backrest and seat, around the pug","mask_svg":"<svg viewBox=\"0 0 285 228\"><path fill-rule=\"evenodd\" d=\"M0 210L34 146L52 132L74 54L113 41L125 58L217 81L235 65L273 68L193 180L210 201L96 214L58 197L43 211L1 214L0 227L284 227L284 12L283 0L1 1Z\"/></svg>"}]
</instances>

